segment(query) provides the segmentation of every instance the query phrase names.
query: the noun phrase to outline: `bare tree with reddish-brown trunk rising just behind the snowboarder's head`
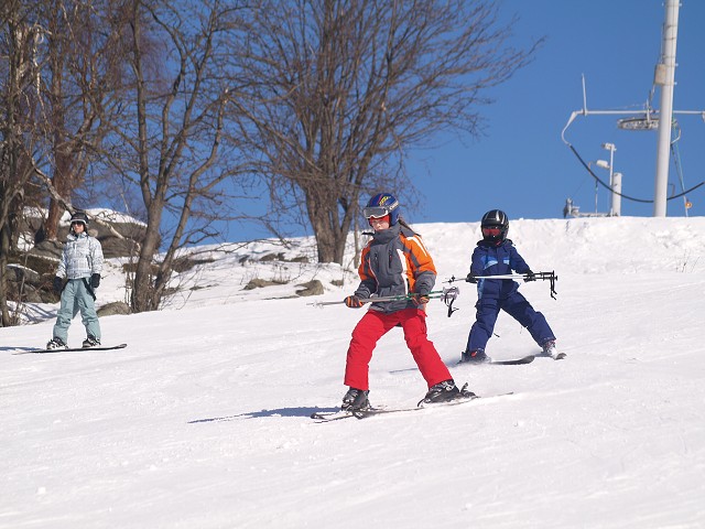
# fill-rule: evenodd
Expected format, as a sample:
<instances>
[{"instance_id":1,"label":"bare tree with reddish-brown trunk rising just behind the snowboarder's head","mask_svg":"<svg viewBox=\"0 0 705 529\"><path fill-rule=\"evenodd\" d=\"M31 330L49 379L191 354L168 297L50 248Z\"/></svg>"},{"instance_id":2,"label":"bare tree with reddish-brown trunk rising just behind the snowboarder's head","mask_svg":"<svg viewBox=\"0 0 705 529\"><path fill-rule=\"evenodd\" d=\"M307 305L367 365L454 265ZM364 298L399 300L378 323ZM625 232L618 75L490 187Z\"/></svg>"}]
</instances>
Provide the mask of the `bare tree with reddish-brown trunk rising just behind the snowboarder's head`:
<instances>
[{"instance_id":1,"label":"bare tree with reddish-brown trunk rising just behind the snowboarder's head","mask_svg":"<svg viewBox=\"0 0 705 529\"><path fill-rule=\"evenodd\" d=\"M50 197L47 218L39 240L56 239L64 203L84 183L109 125L120 114L123 95L124 43L120 35L120 3L36 2L46 26L43 68L44 100L52 185L63 199Z\"/></svg>"}]
</instances>

